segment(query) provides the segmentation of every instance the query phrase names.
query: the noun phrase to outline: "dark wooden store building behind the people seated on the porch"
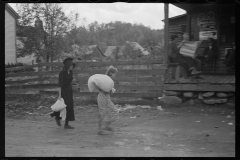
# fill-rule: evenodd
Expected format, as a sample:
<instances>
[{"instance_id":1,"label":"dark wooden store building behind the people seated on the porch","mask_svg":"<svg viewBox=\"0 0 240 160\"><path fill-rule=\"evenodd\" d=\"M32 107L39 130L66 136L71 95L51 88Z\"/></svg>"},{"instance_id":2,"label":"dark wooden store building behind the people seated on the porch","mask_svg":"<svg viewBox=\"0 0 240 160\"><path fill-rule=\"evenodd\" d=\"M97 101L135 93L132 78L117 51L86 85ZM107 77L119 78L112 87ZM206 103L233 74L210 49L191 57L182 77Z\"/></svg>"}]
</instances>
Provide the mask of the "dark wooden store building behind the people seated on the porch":
<instances>
[{"instance_id":1,"label":"dark wooden store building behind the people seated on the porch","mask_svg":"<svg viewBox=\"0 0 240 160\"><path fill-rule=\"evenodd\" d=\"M173 5L185 10L187 13L169 18L169 35L171 35L172 31L186 32L190 35L190 41L202 41L196 53L199 55L207 47L208 38L215 39L219 47L219 59L216 62L214 72L226 73L226 65L224 64L225 54L235 41L235 4L174 3ZM183 26L184 19L186 27ZM176 29L174 29L173 21L178 23Z\"/></svg>"}]
</instances>

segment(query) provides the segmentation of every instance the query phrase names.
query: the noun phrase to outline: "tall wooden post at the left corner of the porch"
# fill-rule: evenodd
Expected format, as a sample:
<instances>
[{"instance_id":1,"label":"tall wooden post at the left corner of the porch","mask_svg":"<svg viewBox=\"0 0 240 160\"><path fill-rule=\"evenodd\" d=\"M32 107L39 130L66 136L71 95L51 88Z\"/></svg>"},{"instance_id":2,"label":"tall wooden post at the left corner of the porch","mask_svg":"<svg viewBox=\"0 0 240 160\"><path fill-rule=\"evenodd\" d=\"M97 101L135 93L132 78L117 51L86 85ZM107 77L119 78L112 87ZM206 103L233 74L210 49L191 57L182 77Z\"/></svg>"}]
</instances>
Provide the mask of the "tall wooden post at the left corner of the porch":
<instances>
[{"instance_id":1,"label":"tall wooden post at the left corner of the porch","mask_svg":"<svg viewBox=\"0 0 240 160\"><path fill-rule=\"evenodd\" d=\"M169 30L169 26L168 26L168 3L164 3L164 64L167 65L167 54L168 54L168 40L169 40L169 36L168 36L168 30Z\"/></svg>"}]
</instances>

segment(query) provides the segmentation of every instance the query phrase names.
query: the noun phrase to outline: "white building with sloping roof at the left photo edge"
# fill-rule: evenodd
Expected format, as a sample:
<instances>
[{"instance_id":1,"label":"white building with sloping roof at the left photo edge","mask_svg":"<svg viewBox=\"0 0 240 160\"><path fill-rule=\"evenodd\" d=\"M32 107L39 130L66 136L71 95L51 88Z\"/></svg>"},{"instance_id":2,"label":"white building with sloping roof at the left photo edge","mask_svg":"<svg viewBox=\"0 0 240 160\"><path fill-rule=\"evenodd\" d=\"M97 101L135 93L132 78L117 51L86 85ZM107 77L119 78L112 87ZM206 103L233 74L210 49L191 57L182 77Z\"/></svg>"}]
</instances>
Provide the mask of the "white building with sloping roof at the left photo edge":
<instances>
[{"instance_id":1,"label":"white building with sloping roof at the left photo edge","mask_svg":"<svg viewBox=\"0 0 240 160\"><path fill-rule=\"evenodd\" d=\"M17 63L16 28L20 16L5 4L5 64Z\"/></svg>"}]
</instances>

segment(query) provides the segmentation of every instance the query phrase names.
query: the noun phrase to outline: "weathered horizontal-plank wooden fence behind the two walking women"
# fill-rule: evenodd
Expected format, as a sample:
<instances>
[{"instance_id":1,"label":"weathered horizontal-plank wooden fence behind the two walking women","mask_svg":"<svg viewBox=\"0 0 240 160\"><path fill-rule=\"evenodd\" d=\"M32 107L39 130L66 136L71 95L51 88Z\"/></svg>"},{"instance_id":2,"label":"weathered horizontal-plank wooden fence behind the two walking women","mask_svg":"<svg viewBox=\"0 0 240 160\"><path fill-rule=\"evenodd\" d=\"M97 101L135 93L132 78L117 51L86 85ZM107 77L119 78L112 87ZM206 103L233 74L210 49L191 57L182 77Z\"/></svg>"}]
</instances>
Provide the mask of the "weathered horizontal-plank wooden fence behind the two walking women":
<instances>
[{"instance_id":1,"label":"weathered horizontal-plank wooden fence behind the two walking women","mask_svg":"<svg viewBox=\"0 0 240 160\"><path fill-rule=\"evenodd\" d=\"M119 72L114 79L117 92L113 97L159 97L162 96L163 76L166 66L160 60L147 61L111 61L111 62L76 62L74 78L79 84L75 96L94 96L87 86L88 78L93 74L105 74L106 69L113 65ZM43 68L50 66L51 71ZM11 72L27 68L38 68L37 72L6 73L5 87L13 89L33 88L40 94L58 95L58 74L63 67L61 62L39 63L31 66L7 68Z\"/></svg>"}]
</instances>

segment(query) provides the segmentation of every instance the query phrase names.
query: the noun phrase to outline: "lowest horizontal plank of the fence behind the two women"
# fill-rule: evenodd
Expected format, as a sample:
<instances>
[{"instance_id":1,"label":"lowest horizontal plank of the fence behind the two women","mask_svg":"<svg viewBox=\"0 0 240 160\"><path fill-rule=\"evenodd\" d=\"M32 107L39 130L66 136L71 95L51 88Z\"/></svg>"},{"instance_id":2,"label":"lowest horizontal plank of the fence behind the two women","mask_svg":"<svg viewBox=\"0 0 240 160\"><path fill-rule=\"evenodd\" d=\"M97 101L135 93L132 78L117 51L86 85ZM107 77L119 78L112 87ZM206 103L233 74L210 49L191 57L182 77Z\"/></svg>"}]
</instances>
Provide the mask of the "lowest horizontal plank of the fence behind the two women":
<instances>
[{"instance_id":1,"label":"lowest horizontal plank of the fence behind the two women","mask_svg":"<svg viewBox=\"0 0 240 160\"><path fill-rule=\"evenodd\" d=\"M47 95L58 95L58 91L40 91L40 94L47 94ZM96 96L98 93L92 92L75 92L74 96ZM114 93L111 97L161 97L162 93Z\"/></svg>"}]
</instances>

